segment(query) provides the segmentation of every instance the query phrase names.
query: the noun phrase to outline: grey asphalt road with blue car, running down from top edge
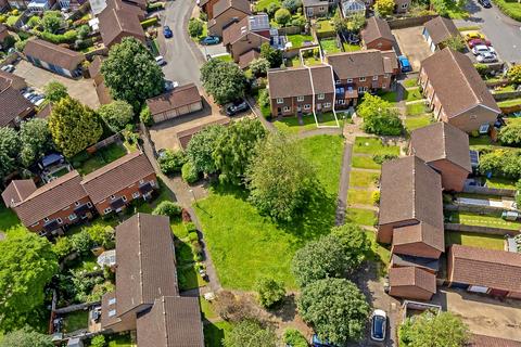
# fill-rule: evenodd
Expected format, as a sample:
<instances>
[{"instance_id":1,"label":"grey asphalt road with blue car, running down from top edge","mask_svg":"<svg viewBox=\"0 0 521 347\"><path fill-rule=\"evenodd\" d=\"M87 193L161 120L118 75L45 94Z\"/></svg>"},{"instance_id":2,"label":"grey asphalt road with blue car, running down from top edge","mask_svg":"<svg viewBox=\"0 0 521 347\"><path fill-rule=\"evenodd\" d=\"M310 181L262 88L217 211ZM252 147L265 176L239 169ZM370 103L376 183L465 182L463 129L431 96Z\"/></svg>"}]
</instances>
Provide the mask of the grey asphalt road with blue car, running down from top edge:
<instances>
[{"instance_id":1,"label":"grey asphalt road with blue car, running down from top edge","mask_svg":"<svg viewBox=\"0 0 521 347\"><path fill-rule=\"evenodd\" d=\"M165 78L180 85L194 82L201 86L199 67L204 56L188 37L188 21L195 5L194 0L167 1L166 9L160 13L162 25L168 25L174 34L169 39L160 30L158 42L161 54L167 64L163 67Z\"/></svg>"}]
</instances>

